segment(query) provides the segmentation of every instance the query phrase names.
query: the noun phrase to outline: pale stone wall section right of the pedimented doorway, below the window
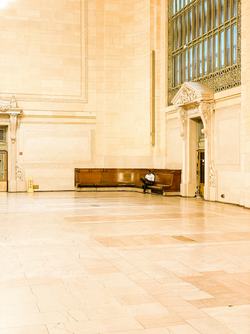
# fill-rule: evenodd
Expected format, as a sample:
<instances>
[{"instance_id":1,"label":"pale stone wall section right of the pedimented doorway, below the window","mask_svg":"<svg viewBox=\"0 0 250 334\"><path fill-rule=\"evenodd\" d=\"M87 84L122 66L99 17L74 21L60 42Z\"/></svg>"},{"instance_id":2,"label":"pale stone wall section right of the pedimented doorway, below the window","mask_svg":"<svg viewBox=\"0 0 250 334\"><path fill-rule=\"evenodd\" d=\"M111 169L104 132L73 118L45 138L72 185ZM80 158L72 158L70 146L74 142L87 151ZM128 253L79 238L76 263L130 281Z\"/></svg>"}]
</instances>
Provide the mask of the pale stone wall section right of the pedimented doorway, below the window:
<instances>
[{"instance_id":1,"label":"pale stone wall section right of the pedimented doorway, below the window","mask_svg":"<svg viewBox=\"0 0 250 334\"><path fill-rule=\"evenodd\" d=\"M214 164L218 173L218 201L245 205L246 188L241 172L241 88L216 93L215 101Z\"/></svg>"}]
</instances>

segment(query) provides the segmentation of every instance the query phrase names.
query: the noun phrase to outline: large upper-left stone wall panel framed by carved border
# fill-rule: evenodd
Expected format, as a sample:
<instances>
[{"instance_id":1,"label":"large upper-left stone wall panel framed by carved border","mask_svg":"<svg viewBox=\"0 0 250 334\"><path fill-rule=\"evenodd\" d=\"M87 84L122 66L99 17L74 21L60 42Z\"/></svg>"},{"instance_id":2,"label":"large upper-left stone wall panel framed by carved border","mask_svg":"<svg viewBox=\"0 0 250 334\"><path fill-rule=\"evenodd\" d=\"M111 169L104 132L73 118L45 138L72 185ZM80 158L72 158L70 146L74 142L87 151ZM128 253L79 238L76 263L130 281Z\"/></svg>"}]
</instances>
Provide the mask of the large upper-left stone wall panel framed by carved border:
<instances>
[{"instance_id":1,"label":"large upper-left stone wall panel framed by carved border","mask_svg":"<svg viewBox=\"0 0 250 334\"><path fill-rule=\"evenodd\" d=\"M19 0L1 9L1 94L84 99L84 5Z\"/></svg>"}]
</instances>

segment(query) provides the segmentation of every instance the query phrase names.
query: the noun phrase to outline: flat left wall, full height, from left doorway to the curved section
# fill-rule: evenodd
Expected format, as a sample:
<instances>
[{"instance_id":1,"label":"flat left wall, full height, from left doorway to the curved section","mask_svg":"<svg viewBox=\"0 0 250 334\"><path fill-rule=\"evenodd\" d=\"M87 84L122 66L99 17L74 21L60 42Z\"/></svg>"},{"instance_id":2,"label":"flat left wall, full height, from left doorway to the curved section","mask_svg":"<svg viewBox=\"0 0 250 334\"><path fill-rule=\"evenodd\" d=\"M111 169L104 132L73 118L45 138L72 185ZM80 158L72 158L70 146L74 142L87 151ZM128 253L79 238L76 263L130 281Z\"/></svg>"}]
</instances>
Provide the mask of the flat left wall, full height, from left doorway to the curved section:
<instances>
[{"instance_id":1,"label":"flat left wall, full height, from left doorway to the curved section","mask_svg":"<svg viewBox=\"0 0 250 334\"><path fill-rule=\"evenodd\" d=\"M95 167L96 155L91 56L87 66L96 45L90 39L87 48L87 0L8 2L0 32L0 96L14 94L23 110L17 157L25 179L31 174L39 190L73 190L74 168Z\"/></svg>"}]
</instances>

